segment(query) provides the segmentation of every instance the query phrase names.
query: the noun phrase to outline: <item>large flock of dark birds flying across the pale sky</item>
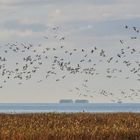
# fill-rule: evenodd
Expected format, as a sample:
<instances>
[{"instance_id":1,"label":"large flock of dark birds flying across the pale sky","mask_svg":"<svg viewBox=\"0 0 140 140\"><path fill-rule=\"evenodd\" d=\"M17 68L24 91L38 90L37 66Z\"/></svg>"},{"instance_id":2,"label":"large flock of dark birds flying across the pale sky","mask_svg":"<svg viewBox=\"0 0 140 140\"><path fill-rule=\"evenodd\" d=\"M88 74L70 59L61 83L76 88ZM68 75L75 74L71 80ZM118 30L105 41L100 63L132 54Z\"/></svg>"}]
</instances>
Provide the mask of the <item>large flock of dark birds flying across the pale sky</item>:
<instances>
[{"instance_id":1,"label":"large flock of dark birds flying across the pale sky","mask_svg":"<svg viewBox=\"0 0 140 140\"><path fill-rule=\"evenodd\" d=\"M129 41L139 39L137 27L125 25L123 29L133 33L134 36L130 36ZM95 96L101 95L110 97L111 101L115 102L115 93L103 88L92 89L92 80L98 77L105 80L125 79L140 84L140 48L129 46L127 40L118 40L120 48L115 53L97 46L68 48L64 45L67 38L58 34L59 27L53 27L51 30L55 33L53 38L58 41L55 47L27 42L0 46L0 89L8 86L9 81L22 85L35 77L39 78L37 83L53 80L54 84L63 84L71 77L75 77L76 81L76 77L80 77L78 85L69 85L70 93L93 100ZM49 36L43 38L45 41L49 40ZM123 102L123 99L137 98L140 89L130 87L120 90L119 93L121 96L117 100Z\"/></svg>"}]
</instances>

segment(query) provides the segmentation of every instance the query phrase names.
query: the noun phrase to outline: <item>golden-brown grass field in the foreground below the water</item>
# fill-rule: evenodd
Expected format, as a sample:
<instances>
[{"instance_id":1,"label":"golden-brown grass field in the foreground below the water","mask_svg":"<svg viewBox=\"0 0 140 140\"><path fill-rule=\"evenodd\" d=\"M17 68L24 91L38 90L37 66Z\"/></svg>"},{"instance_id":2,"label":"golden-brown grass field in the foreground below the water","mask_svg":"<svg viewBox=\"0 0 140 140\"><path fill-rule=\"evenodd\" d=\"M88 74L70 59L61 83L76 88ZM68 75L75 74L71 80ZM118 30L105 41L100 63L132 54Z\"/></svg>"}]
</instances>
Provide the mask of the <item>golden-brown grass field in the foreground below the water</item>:
<instances>
[{"instance_id":1,"label":"golden-brown grass field in the foreground below the water","mask_svg":"<svg viewBox=\"0 0 140 140\"><path fill-rule=\"evenodd\" d=\"M140 114L0 114L0 140L140 140Z\"/></svg>"}]
</instances>

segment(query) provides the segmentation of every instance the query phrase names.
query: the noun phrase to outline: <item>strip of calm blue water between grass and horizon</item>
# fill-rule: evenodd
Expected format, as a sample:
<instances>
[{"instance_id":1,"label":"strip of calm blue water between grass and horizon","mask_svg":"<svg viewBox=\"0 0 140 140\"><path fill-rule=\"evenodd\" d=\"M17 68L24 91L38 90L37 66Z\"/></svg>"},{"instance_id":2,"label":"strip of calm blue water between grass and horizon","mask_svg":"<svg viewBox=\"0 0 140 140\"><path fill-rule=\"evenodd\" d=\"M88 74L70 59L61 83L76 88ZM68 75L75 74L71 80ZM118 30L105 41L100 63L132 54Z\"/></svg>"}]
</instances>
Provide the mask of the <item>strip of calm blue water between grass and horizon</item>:
<instances>
[{"instance_id":1,"label":"strip of calm blue water between grass and horizon","mask_svg":"<svg viewBox=\"0 0 140 140\"><path fill-rule=\"evenodd\" d=\"M140 112L140 104L128 103L30 103L0 104L3 113L35 113L35 112Z\"/></svg>"}]
</instances>

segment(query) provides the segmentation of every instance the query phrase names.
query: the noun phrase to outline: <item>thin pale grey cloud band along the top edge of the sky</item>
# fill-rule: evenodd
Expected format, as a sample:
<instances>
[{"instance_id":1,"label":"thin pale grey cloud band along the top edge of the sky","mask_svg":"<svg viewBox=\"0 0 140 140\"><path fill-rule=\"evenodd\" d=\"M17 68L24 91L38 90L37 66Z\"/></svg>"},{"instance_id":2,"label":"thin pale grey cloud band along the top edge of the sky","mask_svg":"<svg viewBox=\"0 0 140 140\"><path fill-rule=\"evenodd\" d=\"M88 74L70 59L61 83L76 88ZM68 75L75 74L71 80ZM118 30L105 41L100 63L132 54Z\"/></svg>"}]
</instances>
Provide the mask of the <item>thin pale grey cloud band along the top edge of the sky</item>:
<instances>
[{"instance_id":1,"label":"thin pale grey cloud band along the top edge of the sky","mask_svg":"<svg viewBox=\"0 0 140 140\"><path fill-rule=\"evenodd\" d=\"M71 5L90 3L94 5L112 5L122 0L0 0L0 6L34 6L34 5Z\"/></svg>"}]
</instances>

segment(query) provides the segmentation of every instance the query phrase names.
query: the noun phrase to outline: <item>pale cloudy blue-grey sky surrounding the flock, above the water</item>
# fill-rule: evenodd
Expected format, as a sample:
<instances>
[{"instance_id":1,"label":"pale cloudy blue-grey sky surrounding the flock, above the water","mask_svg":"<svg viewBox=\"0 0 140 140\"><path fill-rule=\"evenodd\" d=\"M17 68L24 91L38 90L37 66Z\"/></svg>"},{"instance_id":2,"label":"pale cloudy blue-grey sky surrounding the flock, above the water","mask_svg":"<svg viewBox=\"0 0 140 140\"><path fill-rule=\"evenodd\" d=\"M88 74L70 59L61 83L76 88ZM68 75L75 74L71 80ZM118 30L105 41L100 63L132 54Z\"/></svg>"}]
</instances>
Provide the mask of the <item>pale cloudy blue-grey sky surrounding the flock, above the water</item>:
<instances>
[{"instance_id":1,"label":"pale cloudy blue-grey sky surrounding the flock, above the water","mask_svg":"<svg viewBox=\"0 0 140 140\"><path fill-rule=\"evenodd\" d=\"M124 29L125 25L140 29L139 5L139 0L0 0L0 46L2 46L0 49L3 49L6 43L26 42L50 48L64 45L68 50L97 46L115 54L122 47L120 40L127 40L127 44L139 49L140 40L129 39L135 33ZM55 32L52 30L54 27L59 29ZM60 42L54 39L55 34L65 36L65 40ZM44 36L49 39L45 39ZM4 55L2 51L0 55ZM74 59L78 59L78 56ZM9 53L7 57L13 61L20 60L20 56L13 53ZM139 58L135 57L136 60ZM9 62L10 64L12 62ZM49 64L44 65L31 80L24 81L20 86L13 80L7 82L0 89L0 102L44 103L78 98L91 100L79 95L84 94L84 90L74 89L80 87L81 81L85 79L82 75L68 75L62 82L56 82L55 77L41 83L36 82L41 79L47 67ZM102 71L104 67L101 65L99 69ZM116 67L124 69L123 65ZM130 88L139 89L140 82L135 81L133 76L127 81L122 78L123 75L118 76L120 78L115 80L106 80L102 76L86 77L90 79L89 87L92 90L88 94L94 96L91 102L117 101L121 99L119 94L121 90L130 92ZM114 92L115 97L96 95L96 91L101 89ZM139 101L138 97L124 100L124 102Z\"/></svg>"}]
</instances>

